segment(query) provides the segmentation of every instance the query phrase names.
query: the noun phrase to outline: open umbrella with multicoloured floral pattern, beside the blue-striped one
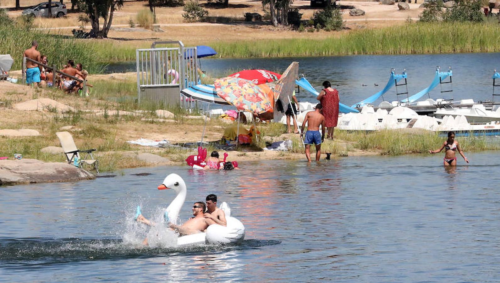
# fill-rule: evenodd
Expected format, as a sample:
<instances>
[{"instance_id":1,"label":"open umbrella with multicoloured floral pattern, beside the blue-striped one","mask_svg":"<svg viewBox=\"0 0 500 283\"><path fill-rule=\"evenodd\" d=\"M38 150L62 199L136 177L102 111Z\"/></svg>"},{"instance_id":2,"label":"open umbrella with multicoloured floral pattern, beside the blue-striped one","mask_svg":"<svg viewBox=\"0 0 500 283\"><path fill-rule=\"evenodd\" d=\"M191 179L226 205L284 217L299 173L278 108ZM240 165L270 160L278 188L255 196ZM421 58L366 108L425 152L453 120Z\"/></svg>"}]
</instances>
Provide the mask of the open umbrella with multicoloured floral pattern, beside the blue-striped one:
<instances>
[{"instance_id":1,"label":"open umbrella with multicoloured floral pattern, beside the blue-striped one","mask_svg":"<svg viewBox=\"0 0 500 283\"><path fill-rule=\"evenodd\" d=\"M240 110L257 114L272 110L267 94L256 84L238 77L223 77L213 82L217 95Z\"/></svg>"}]
</instances>

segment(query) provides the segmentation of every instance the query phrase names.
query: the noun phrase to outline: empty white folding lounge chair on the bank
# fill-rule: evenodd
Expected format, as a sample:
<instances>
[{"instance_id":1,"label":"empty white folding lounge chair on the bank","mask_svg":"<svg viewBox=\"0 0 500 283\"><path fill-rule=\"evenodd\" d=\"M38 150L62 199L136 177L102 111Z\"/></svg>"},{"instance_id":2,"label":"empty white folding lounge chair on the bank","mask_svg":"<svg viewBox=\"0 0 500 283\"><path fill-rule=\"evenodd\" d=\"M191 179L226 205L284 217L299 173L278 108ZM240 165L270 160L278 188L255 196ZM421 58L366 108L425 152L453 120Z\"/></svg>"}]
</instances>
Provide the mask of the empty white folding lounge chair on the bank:
<instances>
[{"instance_id":1,"label":"empty white folding lounge chair on the bank","mask_svg":"<svg viewBox=\"0 0 500 283\"><path fill-rule=\"evenodd\" d=\"M62 150L66 155L68 164L73 164L80 168L83 168L83 164L87 164L93 166L97 173L99 172L99 170L97 169L97 164L99 162L92 156L92 151L95 151L95 149L79 150L78 148L76 148L76 144L74 144L73 137L67 131L58 131L55 133L55 135L57 135L57 137L59 138L59 142L61 143ZM86 153L85 157L80 157L80 152ZM90 159L87 159L88 155L90 155Z\"/></svg>"}]
</instances>

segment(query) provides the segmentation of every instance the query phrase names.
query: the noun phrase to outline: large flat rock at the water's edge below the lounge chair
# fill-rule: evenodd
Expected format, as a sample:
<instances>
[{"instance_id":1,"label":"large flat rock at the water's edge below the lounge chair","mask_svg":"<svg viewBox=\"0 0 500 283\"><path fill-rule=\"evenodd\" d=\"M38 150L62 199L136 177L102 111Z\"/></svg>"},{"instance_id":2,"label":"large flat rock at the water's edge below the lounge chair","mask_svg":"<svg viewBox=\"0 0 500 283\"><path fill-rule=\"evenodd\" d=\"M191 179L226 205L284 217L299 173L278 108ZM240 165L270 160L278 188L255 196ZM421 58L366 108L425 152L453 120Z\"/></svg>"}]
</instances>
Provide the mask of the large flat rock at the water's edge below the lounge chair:
<instances>
[{"instance_id":1,"label":"large flat rock at the water's edge below the lounge chair","mask_svg":"<svg viewBox=\"0 0 500 283\"><path fill-rule=\"evenodd\" d=\"M0 185L91 180L95 176L81 168L37 159L0 160Z\"/></svg>"}]
</instances>

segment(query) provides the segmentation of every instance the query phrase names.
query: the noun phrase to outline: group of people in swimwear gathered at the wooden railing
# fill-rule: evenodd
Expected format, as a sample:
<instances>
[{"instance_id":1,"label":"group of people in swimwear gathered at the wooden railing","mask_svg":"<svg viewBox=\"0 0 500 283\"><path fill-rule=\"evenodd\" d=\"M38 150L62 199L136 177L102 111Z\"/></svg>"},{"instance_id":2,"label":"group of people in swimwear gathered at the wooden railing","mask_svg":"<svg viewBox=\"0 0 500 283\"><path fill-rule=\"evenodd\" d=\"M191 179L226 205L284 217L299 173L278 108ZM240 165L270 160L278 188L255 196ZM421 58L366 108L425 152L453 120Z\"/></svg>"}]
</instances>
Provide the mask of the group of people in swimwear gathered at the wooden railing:
<instances>
[{"instance_id":1,"label":"group of people in swimwear gathered at the wooden railing","mask_svg":"<svg viewBox=\"0 0 500 283\"><path fill-rule=\"evenodd\" d=\"M48 66L47 56L41 54L37 49L38 42L33 40L31 42L31 47L24 50L23 53L23 56L43 64L37 64L31 60L26 60L27 84L41 87L57 86L68 93L77 92L83 88L83 81L86 79L88 72L83 69L81 63L75 65L74 61L69 59L61 70L54 71L52 68L46 67ZM53 83L55 83L55 85L53 85ZM92 86L88 83L86 85ZM88 95L88 93L86 93L86 95Z\"/></svg>"}]
</instances>

